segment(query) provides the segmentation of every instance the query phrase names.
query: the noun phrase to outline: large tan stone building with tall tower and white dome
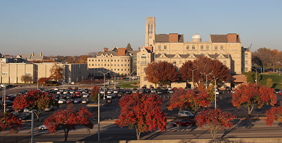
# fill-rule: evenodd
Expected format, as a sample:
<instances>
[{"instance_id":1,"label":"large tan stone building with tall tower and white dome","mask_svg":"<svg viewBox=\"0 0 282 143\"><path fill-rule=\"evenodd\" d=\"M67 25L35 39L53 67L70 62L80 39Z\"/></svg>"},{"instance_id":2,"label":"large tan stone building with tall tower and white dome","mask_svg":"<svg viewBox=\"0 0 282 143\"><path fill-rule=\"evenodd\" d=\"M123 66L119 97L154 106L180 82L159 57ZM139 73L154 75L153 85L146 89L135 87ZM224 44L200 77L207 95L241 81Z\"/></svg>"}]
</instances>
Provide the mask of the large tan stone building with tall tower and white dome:
<instances>
[{"instance_id":1,"label":"large tan stone building with tall tower and white dome","mask_svg":"<svg viewBox=\"0 0 282 143\"><path fill-rule=\"evenodd\" d=\"M231 70L231 75L236 76L243 72L251 71L251 51L241 46L239 34L209 35L207 42L201 41L201 36L195 34L191 42L184 41L184 34L156 34L155 17L147 17L146 22L146 47L151 47L150 53L139 52L137 61L142 60L140 53L146 56L154 56L153 61L168 61L177 67L181 67L187 60L194 60L199 56L218 59ZM144 48L143 48L144 49ZM145 48L146 49L146 48ZM148 48L147 48L148 49ZM148 64L148 63L147 63ZM139 66L139 67L138 67ZM140 76L140 86L151 85L145 82L146 76L143 72L145 65L137 64L137 76ZM227 83L230 84L236 83Z\"/></svg>"}]
</instances>

